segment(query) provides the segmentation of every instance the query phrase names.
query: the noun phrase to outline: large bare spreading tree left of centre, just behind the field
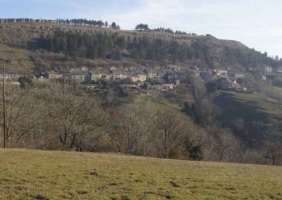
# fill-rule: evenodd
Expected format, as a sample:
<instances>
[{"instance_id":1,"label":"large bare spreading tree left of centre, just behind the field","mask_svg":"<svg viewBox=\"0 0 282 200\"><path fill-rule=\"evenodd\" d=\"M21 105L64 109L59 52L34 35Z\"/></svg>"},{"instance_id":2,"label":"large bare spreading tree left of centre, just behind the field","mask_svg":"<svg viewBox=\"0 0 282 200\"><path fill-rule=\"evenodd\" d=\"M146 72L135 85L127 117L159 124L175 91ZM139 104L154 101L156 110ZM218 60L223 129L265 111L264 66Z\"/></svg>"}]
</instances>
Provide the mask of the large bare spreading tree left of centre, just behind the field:
<instances>
[{"instance_id":1,"label":"large bare spreading tree left of centre, just behind the field","mask_svg":"<svg viewBox=\"0 0 282 200\"><path fill-rule=\"evenodd\" d=\"M66 83L51 85L50 115L63 147L82 151L87 140L102 132L108 117L97 100L76 95L76 89Z\"/></svg>"}]
</instances>

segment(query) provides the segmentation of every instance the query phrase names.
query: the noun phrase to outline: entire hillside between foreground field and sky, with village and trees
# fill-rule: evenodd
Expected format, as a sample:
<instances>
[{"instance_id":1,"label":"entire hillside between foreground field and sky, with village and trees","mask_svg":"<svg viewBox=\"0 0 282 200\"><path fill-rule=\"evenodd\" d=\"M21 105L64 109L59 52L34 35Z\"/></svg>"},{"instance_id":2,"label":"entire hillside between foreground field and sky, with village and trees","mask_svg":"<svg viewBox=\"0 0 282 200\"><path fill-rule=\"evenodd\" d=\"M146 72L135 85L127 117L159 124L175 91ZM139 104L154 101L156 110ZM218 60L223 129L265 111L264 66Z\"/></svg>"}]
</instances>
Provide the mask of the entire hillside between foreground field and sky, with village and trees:
<instances>
[{"instance_id":1,"label":"entire hillside between foreground field and sky, with village and trees","mask_svg":"<svg viewBox=\"0 0 282 200\"><path fill-rule=\"evenodd\" d=\"M8 75L20 82L7 89L9 147L281 164L282 61L240 42L15 22L0 24L0 53L20 75Z\"/></svg>"}]
</instances>

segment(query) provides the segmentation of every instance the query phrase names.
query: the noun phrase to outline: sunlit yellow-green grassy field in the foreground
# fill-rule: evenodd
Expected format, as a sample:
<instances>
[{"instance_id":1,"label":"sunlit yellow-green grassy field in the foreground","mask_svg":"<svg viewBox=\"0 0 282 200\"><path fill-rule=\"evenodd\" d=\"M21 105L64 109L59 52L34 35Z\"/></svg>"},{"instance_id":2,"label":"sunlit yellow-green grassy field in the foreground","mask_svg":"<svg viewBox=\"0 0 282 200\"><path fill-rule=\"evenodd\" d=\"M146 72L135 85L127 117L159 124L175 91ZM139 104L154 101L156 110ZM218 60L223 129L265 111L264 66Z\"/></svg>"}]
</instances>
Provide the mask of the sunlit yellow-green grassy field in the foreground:
<instances>
[{"instance_id":1,"label":"sunlit yellow-green grassy field in the foreground","mask_svg":"<svg viewBox=\"0 0 282 200\"><path fill-rule=\"evenodd\" d=\"M282 199L282 168L0 149L1 199Z\"/></svg>"}]
</instances>

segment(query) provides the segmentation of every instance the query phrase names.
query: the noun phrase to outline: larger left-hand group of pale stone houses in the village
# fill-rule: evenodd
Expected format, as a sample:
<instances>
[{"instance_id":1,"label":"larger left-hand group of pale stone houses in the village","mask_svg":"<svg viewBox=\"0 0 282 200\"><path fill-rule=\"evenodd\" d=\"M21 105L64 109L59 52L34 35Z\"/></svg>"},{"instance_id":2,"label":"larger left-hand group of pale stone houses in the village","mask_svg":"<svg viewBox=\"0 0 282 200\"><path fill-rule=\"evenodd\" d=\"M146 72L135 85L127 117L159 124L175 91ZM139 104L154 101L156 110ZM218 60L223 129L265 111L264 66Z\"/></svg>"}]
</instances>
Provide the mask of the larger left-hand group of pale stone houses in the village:
<instances>
[{"instance_id":1,"label":"larger left-hand group of pale stone houses in the village","mask_svg":"<svg viewBox=\"0 0 282 200\"><path fill-rule=\"evenodd\" d=\"M110 68L97 67L88 69L68 68L66 70L51 70L43 73L41 78L49 80L63 79L73 80L80 83L97 83L105 82L127 82L127 83L144 83L154 82L154 85L159 85L161 89L173 89L180 85L180 75L174 65L167 65L166 68L145 68L132 67L123 68L112 66Z\"/></svg>"}]
</instances>

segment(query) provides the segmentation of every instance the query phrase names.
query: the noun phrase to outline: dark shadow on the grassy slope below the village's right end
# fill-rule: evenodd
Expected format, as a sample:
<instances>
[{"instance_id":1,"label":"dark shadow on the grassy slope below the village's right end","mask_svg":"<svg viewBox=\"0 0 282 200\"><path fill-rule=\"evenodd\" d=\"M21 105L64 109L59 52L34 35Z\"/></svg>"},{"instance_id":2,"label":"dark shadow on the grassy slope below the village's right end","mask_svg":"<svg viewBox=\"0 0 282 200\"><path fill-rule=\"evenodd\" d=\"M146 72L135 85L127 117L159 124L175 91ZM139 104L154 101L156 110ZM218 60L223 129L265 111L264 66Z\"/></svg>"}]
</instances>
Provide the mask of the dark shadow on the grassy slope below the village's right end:
<instances>
[{"instance_id":1,"label":"dark shadow on the grassy slope below the village's right end","mask_svg":"<svg viewBox=\"0 0 282 200\"><path fill-rule=\"evenodd\" d=\"M238 99L235 94L221 92L215 99L216 106L221 109L220 120L223 127L229 127L244 142L255 146L271 134L274 129L271 115L259 106L257 101ZM236 121L242 119L243 128L239 129Z\"/></svg>"}]
</instances>

